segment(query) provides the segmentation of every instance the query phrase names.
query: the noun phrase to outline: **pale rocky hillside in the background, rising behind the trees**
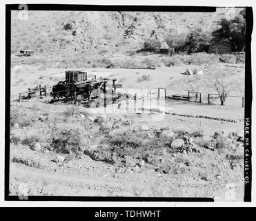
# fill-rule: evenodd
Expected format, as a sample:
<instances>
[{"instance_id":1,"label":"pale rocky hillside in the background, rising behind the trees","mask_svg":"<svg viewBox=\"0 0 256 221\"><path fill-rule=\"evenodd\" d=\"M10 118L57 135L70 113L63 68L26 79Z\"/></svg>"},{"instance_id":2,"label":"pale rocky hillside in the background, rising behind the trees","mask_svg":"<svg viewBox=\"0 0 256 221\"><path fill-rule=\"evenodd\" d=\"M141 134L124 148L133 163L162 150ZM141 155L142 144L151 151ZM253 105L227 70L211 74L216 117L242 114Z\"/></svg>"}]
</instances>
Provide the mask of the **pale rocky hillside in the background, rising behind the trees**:
<instances>
[{"instance_id":1,"label":"pale rocky hillside in the background, rising behind the trees","mask_svg":"<svg viewBox=\"0 0 256 221\"><path fill-rule=\"evenodd\" d=\"M238 9L237 9L238 10ZM12 12L12 52L38 48L39 52L139 48L145 39L163 39L175 30L184 35L194 28L212 31L217 21L237 10L218 8L199 12L62 12L29 11L28 21Z\"/></svg>"}]
</instances>

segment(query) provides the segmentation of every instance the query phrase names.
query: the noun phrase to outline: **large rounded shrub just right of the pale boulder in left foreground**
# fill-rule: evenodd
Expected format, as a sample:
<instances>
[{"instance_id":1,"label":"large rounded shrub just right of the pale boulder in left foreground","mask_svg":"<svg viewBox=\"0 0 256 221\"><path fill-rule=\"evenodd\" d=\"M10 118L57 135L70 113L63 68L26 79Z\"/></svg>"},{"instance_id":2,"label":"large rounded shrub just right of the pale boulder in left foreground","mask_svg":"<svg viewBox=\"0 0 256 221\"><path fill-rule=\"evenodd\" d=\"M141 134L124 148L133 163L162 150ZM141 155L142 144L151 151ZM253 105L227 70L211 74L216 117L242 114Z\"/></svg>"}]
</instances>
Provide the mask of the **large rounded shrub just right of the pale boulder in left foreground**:
<instances>
[{"instance_id":1,"label":"large rounded shrub just right of the pale boulder in left foreground","mask_svg":"<svg viewBox=\"0 0 256 221\"><path fill-rule=\"evenodd\" d=\"M77 153L86 144L85 133L85 129L77 124L60 125L52 133L52 146L57 152Z\"/></svg>"}]
</instances>

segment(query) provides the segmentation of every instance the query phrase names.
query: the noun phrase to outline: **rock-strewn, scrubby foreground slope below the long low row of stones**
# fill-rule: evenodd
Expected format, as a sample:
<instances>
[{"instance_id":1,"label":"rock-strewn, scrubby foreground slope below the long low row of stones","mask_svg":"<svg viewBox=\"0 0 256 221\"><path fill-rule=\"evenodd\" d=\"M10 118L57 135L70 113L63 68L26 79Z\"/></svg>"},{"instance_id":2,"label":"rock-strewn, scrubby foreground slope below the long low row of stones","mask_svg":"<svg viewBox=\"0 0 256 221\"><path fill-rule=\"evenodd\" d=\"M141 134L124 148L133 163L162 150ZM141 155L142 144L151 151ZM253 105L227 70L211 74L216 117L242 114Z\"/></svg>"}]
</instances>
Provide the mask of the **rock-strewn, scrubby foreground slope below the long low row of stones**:
<instances>
[{"instance_id":1,"label":"rock-strewn, scrubby foreground slope below the long low row of stones","mask_svg":"<svg viewBox=\"0 0 256 221\"><path fill-rule=\"evenodd\" d=\"M10 195L243 196L243 122L12 103ZM208 128L208 129L204 129ZM232 130L230 130L232 128Z\"/></svg>"}]
</instances>

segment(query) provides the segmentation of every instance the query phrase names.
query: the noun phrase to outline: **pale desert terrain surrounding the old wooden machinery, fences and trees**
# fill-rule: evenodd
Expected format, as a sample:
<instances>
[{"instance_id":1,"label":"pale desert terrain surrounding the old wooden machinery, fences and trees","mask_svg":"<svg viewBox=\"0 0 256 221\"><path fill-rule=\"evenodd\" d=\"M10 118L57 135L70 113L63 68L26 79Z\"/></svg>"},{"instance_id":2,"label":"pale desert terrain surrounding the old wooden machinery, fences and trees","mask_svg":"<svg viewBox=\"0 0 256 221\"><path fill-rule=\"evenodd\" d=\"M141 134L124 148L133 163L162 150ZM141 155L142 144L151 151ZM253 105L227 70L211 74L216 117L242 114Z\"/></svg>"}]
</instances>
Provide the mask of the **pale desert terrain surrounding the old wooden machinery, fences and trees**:
<instances>
[{"instance_id":1,"label":"pale desert terrain surrounding the old wooden machinery, fences and trees","mask_svg":"<svg viewBox=\"0 0 256 221\"><path fill-rule=\"evenodd\" d=\"M225 201L234 188L235 200L243 200L244 55L139 51L141 38L152 28L160 35L179 21L188 24L184 33L197 25L214 29L223 12L182 17L101 12L97 28L92 22L96 12L86 17L78 12L46 12L47 17L30 13L34 20L27 23L12 17L10 195ZM125 34L129 21L135 21L135 37L115 35L120 30L106 26L110 21ZM168 21L167 29L159 28L163 21ZM35 55L18 56L21 48L32 47L38 48ZM131 91L158 88L170 97L200 92L201 103L151 97L108 102L106 108L50 103L52 87L65 79L66 70L115 78L122 85L119 93L131 96ZM227 97L225 105L219 98L208 104L208 93L217 93L212 84L216 79L224 82L229 95L240 97ZM46 97L19 102L19 93L39 85L46 86Z\"/></svg>"}]
</instances>

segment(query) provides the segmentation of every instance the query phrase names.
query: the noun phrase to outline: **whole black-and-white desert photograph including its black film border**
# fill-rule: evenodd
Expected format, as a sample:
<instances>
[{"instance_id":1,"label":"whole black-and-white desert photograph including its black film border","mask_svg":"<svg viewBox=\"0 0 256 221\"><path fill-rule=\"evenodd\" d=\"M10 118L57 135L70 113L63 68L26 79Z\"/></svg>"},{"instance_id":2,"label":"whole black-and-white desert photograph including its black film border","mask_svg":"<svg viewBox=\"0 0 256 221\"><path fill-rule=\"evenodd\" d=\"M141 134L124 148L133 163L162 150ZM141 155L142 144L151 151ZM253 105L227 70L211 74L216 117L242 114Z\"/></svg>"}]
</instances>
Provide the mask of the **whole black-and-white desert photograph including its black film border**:
<instances>
[{"instance_id":1,"label":"whole black-and-white desert photograph including its black film border","mask_svg":"<svg viewBox=\"0 0 256 221\"><path fill-rule=\"evenodd\" d=\"M248 201L252 27L246 6L6 6L6 200Z\"/></svg>"}]
</instances>

